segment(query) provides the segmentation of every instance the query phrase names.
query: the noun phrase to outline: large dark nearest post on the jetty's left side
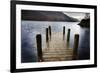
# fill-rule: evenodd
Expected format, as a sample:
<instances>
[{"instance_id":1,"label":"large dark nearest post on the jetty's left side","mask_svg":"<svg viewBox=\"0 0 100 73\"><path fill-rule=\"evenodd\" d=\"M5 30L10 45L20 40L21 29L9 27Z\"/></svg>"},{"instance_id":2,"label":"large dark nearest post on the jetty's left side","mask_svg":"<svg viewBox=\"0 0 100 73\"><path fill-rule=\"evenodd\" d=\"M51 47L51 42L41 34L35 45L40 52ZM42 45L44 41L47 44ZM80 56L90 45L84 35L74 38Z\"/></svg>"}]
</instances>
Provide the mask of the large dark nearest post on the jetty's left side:
<instances>
[{"instance_id":1,"label":"large dark nearest post on the jetty's left side","mask_svg":"<svg viewBox=\"0 0 100 73\"><path fill-rule=\"evenodd\" d=\"M42 39L41 34L36 35L36 42L37 42L37 54L38 54L38 62L43 61L42 55Z\"/></svg>"}]
</instances>

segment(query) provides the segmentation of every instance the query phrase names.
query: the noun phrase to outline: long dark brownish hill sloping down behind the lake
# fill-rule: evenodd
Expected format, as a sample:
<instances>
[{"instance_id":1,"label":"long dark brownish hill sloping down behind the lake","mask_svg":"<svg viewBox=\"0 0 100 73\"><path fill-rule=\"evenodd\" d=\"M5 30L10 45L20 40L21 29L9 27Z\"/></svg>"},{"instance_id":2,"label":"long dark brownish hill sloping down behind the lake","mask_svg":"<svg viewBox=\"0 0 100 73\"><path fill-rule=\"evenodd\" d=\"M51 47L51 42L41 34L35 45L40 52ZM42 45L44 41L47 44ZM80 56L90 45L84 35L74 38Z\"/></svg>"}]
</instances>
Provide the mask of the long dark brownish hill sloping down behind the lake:
<instances>
[{"instance_id":1,"label":"long dark brownish hill sloping down behind the lake","mask_svg":"<svg viewBox=\"0 0 100 73\"><path fill-rule=\"evenodd\" d=\"M67 21L67 22L78 21L75 18L65 15L63 12L32 11L32 10L22 10L21 19L32 20L32 21Z\"/></svg>"}]
</instances>

